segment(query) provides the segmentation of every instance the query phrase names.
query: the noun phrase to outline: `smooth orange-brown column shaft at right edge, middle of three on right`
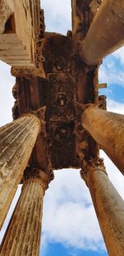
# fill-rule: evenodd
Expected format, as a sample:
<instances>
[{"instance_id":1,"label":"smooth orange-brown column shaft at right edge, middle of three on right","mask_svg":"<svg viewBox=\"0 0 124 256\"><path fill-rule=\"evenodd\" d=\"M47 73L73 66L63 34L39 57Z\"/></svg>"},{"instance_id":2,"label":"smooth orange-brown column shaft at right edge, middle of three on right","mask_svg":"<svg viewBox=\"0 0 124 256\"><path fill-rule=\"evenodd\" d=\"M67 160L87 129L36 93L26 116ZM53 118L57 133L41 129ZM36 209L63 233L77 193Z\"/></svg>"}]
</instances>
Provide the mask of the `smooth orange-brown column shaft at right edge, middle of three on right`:
<instances>
[{"instance_id":1,"label":"smooth orange-brown column shaft at right edge, middle of three on right","mask_svg":"<svg viewBox=\"0 0 124 256\"><path fill-rule=\"evenodd\" d=\"M89 107L82 125L124 174L124 115Z\"/></svg>"}]
</instances>

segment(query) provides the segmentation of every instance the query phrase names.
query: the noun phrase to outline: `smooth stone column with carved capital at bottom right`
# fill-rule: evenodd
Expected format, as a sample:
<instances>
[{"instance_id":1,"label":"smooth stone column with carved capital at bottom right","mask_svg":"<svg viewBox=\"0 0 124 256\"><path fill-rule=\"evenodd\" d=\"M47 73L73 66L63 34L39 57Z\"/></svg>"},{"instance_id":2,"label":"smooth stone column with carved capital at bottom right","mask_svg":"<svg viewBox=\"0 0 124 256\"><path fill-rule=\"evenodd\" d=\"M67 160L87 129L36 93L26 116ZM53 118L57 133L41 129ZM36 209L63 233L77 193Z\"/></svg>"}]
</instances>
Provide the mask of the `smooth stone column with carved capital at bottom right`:
<instances>
[{"instance_id":1,"label":"smooth stone column with carved capital at bottom right","mask_svg":"<svg viewBox=\"0 0 124 256\"><path fill-rule=\"evenodd\" d=\"M117 193L102 159L89 161L81 171L92 196L103 239L110 256L124 254L124 203Z\"/></svg>"}]
</instances>

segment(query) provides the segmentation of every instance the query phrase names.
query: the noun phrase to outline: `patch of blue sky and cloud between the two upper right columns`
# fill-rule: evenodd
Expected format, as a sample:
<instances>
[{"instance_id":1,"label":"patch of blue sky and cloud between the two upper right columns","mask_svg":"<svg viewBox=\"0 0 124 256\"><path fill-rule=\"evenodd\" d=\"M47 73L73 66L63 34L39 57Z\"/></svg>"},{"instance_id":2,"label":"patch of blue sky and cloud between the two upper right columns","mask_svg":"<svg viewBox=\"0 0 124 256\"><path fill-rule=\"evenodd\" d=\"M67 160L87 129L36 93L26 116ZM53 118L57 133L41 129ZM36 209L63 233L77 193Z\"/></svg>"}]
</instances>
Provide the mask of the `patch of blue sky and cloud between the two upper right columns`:
<instances>
[{"instance_id":1,"label":"patch of blue sky and cloud between the two upper right columns","mask_svg":"<svg viewBox=\"0 0 124 256\"><path fill-rule=\"evenodd\" d=\"M124 62L117 52L103 60L99 69L99 80L107 83L107 89L100 89L99 94L106 94L108 99L124 104Z\"/></svg>"}]
</instances>

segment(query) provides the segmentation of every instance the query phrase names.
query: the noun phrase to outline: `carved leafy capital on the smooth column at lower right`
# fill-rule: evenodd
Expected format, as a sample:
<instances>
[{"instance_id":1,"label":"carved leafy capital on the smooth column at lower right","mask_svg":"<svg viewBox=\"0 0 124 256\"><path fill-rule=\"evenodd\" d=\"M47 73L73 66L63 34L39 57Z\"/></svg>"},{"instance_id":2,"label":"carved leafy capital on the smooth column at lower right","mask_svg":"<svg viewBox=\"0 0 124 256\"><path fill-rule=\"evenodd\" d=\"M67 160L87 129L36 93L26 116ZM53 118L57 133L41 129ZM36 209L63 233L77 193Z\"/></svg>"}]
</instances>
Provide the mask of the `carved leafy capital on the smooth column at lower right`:
<instances>
[{"instance_id":1,"label":"carved leafy capital on the smooth column at lower right","mask_svg":"<svg viewBox=\"0 0 124 256\"><path fill-rule=\"evenodd\" d=\"M80 171L80 176L86 182L88 186L88 176L90 171L103 171L107 175L106 167L104 166L103 158L93 158L88 160L88 162L83 162L83 168Z\"/></svg>"}]
</instances>

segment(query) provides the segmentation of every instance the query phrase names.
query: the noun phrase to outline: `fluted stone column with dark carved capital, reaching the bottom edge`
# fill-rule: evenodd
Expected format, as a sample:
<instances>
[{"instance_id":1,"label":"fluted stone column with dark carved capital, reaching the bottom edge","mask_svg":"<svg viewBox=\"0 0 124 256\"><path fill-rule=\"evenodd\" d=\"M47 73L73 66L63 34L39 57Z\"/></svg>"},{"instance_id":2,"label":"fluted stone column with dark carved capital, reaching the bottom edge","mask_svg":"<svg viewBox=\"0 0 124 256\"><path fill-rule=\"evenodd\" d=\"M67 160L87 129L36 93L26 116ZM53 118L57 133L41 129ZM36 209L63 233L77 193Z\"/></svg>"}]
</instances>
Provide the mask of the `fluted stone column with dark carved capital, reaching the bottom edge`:
<instances>
[{"instance_id":1,"label":"fluted stone column with dark carved capital, reaching the bottom edge","mask_svg":"<svg viewBox=\"0 0 124 256\"><path fill-rule=\"evenodd\" d=\"M26 178L2 240L1 256L39 255L43 196L48 187L48 176L44 171L35 169Z\"/></svg>"}]
</instances>

